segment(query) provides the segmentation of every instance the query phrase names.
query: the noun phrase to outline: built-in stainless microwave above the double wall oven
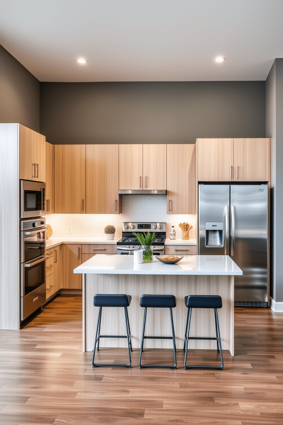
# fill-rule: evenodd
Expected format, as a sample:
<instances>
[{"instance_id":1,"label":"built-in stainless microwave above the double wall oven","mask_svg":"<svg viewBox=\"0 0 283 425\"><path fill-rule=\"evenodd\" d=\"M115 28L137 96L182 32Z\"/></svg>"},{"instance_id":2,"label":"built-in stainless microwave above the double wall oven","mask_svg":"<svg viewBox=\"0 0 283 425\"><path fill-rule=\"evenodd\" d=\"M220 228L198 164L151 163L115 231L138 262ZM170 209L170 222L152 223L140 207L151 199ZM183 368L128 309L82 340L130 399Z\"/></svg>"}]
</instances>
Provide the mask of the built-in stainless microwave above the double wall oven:
<instances>
[{"instance_id":1,"label":"built-in stainless microwave above the double wall oven","mask_svg":"<svg viewBox=\"0 0 283 425\"><path fill-rule=\"evenodd\" d=\"M20 180L20 218L45 215L45 183Z\"/></svg>"}]
</instances>

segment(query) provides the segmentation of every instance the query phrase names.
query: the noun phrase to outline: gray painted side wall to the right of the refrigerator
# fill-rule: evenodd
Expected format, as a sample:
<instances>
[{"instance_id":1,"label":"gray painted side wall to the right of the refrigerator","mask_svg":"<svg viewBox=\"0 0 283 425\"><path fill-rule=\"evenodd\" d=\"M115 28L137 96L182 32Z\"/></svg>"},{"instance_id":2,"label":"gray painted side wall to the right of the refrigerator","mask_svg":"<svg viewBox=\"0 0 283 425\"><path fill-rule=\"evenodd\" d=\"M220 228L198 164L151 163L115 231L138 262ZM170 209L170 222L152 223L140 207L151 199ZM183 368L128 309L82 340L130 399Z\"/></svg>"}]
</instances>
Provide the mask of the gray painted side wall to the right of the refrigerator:
<instances>
[{"instance_id":1,"label":"gray painted side wall to the right of the refrigerator","mask_svg":"<svg viewBox=\"0 0 283 425\"><path fill-rule=\"evenodd\" d=\"M283 302L283 59L275 59L266 79L266 136L272 137L272 247L271 296Z\"/></svg>"}]
</instances>

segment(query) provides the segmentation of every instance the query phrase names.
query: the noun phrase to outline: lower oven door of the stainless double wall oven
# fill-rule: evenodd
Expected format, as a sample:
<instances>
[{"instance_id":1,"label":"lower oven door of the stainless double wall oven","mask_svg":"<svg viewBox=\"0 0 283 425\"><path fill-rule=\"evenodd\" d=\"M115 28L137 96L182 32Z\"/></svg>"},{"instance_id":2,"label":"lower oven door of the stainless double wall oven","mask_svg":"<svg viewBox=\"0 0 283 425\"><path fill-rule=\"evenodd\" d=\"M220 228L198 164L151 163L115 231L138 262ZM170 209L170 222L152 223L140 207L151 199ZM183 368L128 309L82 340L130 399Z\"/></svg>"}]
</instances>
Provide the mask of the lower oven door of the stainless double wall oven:
<instances>
[{"instance_id":1,"label":"lower oven door of the stainless double wall oven","mask_svg":"<svg viewBox=\"0 0 283 425\"><path fill-rule=\"evenodd\" d=\"M45 258L42 255L35 261L21 264L21 297L25 297L35 289L45 284Z\"/></svg>"}]
</instances>

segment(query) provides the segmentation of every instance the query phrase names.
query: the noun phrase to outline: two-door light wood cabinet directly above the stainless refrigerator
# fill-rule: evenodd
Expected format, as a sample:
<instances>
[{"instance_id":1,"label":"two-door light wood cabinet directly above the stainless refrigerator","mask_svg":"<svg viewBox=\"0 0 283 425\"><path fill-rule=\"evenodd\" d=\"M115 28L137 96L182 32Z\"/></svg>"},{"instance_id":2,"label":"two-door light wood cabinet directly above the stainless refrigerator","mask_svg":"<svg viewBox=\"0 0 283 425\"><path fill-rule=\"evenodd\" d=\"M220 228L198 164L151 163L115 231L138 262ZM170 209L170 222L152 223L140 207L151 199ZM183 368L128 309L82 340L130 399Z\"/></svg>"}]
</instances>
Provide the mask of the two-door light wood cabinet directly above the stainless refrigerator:
<instances>
[{"instance_id":1,"label":"two-door light wood cabinet directly above the stainless refrigerator","mask_svg":"<svg viewBox=\"0 0 283 425\"><path fill-rule=\"evenodd\" d=\"M197 139L198 181L269 181L269 139Z\"/></svg>"}]
</instances>

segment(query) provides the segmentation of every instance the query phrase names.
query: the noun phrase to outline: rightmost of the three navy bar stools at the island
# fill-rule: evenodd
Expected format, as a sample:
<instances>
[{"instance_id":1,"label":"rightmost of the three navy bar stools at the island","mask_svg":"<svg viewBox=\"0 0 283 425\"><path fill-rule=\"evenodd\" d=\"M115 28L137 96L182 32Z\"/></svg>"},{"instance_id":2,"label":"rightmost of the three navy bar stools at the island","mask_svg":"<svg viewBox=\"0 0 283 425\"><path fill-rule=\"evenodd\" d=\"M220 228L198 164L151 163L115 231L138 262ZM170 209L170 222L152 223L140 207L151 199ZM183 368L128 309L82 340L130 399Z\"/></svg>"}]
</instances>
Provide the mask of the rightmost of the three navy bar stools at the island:
<instances>
[{"instance_id":1,"label":"rightmost of the three navy bar stools at the island","mask_svg":"<svg viewBox=\"0 0 283 425\"><path fill-rule=\"evenodd\" d=\"M222 348L221 348L221 340L220 340L220 332L219 332L219 322L218 322L218 314L217 309L222 308L222 298L220 295L189 295L185 297L185 304L188 308L188 316L187 316L187 324L185 330L185 342L183 351L185 352L185 370L186 369L223 369L223 356L222 356ZM190 325L191 325L191 315L192 309L214 309L214 317L215 317L215 329L216 329L216 338L200 338L200 337L189 337ZM188 366L187 363L187 354L188 354L188 340L216 340L217 341L217 352L221 355L221 366Z\"/></svg>"}]
</instances>

